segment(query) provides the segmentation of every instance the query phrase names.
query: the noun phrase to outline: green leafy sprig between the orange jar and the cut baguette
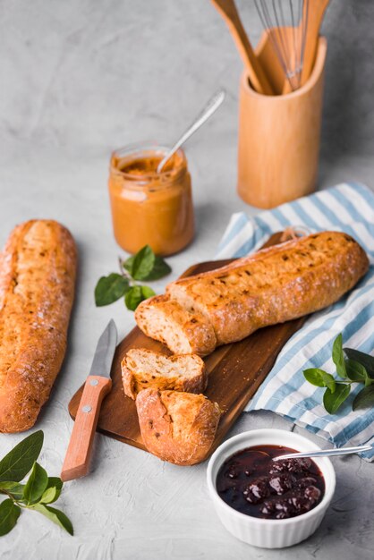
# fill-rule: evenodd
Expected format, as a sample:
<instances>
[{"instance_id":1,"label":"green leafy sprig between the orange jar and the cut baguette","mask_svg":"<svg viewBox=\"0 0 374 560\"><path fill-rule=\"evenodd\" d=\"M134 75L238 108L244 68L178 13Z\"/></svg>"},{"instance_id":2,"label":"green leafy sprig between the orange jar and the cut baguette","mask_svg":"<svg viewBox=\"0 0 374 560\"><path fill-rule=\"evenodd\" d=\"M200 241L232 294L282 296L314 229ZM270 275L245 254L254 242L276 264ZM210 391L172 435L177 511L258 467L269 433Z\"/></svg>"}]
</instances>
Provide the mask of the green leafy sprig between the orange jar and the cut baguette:
<instances>
[{"instance_id":1,"label":"green leafy sprig between the orange jar and the cut baguette","mask_svg":"<svg viewBox=\"0 0 374 560\"><path fill-rule=\"evenodd\" d=\"M134 281L158 280L172 270L164 259L155 255L149 245L126 260L119 259L119 265L120 274L113 272L98 280L95 288L95 303L98 307L109 305L124 296L127 309L134 311L140 301L156 295L149 286L136 284Z\"/></svg>"}]
</instances>

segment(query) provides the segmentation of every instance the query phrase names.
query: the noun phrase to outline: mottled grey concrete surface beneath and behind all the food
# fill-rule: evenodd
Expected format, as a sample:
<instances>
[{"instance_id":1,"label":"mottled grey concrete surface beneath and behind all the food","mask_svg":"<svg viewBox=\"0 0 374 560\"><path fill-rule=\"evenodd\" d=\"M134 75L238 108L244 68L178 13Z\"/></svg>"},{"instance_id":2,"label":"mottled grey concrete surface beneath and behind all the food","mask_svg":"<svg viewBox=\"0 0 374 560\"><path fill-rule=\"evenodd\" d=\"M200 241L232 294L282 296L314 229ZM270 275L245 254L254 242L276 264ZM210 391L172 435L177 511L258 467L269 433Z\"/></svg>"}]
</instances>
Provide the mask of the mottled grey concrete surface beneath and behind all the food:
<instances>
[{"instance_id":1,"label":"mottled grey concrete surface beneath and behind all the food","mask_svg":"<svg viewBox=\"0 0 374 560\"><path fill-rule=\"evenodd\" d=\"M259 21L242 0L251 37ZM333 0L328 38L319 187L357 180L373 188L374 4ZM225 105L186 148L198 231L169 259L176 277L210 259L229 216L252 213L235 192L237 85L241 63L208 0L0 1L0 243L31 217L61 220L80 250L77 298L64 368L36 428L41 462L58 475L72 429L66 407L88 373L98 335L113 317L121 337L133 326L121 301L96 309L98 277L116 266L106 193L111 149L174 140L219 86ZM166 280L156 283L161 292ZM242 416L233 433L293 427L276 415ZM0 436L4 454L22 435ZM310 437L311 438L311 437ZM324 445L324 442L319 441ZM287 558L373 556L373 465L336 458L334 502L319 530L286 550L247 547L220 525L208 499L206 465L178 468L115 440L97 438L93 471L66 484L58 504L72 538L38 513L22 513L0 539L0 557L50 559Z\"/></svg>"}]
</instances>

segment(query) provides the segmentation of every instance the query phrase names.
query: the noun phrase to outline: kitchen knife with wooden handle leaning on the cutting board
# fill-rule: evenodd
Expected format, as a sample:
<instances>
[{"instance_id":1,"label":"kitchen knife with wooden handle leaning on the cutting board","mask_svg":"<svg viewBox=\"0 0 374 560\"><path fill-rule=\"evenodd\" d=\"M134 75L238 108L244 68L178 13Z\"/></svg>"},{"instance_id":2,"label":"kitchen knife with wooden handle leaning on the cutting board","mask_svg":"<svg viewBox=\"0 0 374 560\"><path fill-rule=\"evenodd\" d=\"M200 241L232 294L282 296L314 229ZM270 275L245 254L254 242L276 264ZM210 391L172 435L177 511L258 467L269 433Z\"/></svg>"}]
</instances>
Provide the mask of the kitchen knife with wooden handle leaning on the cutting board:
<instances>
[{"instance_id":1,"label":"kitchen knife with wooden handle leaning on the cutting board","mask_svg":"<svg viewBox=\"0 0 374 560\"><path fill-rule=\"evenodd\" d=\"M111 319L98 339L98 346L84 384L72 436L65 455L61 478L79 479L89 471L89 458L98 424L98 414L104 397L112 388L110 369L117 344L117 328Z\"/></svg>"}]
</instances>

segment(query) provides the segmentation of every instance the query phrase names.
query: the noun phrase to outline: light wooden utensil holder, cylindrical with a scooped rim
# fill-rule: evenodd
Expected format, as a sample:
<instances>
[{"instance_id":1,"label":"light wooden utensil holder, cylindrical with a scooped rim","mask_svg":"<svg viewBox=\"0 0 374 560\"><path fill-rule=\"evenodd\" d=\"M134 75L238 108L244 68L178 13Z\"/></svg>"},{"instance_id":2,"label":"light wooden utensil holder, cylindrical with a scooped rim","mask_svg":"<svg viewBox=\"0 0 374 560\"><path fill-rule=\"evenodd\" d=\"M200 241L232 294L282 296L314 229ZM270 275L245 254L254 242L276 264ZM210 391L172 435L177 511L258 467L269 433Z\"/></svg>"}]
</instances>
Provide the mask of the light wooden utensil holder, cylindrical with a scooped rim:
<instances>
[{"instance_id":1,"label":"light wooden utensil holder, cylindrical with a scooped rim","mask_svg":"<svg viewBox=\"0 0 374 560\"><path fill-rule=\"evenodd\" d=\"M257 49L271 64L268 37ZM257 93L245 72L240 82L238 193L258 208L274 208L314 191L319 161L319 137L326 38L319 38L309 80L286 95Z\"/></svg>"}]
</instances>

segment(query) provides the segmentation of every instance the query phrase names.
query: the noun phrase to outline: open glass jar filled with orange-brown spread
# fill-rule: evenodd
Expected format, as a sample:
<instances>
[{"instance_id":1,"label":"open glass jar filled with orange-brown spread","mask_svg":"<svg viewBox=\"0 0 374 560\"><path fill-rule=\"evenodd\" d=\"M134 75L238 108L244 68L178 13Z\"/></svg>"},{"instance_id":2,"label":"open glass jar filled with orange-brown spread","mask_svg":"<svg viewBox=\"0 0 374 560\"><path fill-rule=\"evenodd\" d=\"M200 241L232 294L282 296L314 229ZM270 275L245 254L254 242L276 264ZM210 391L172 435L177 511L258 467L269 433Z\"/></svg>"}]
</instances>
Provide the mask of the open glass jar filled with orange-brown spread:
<instances>
[{"instance_id":1,"label":"open glass jar filled with orange-brown spread","mask_svg":"<svg viewBox=\"0 0 374 560\"><path fill-rule=\"evenodd\" d=\"M183 150L157 173L168 149L127 146L111 157L109 196L116 242L135 253L149 244L157 255L188 245L194 233L191 175Z\"/></svg>"}]
</instances>

